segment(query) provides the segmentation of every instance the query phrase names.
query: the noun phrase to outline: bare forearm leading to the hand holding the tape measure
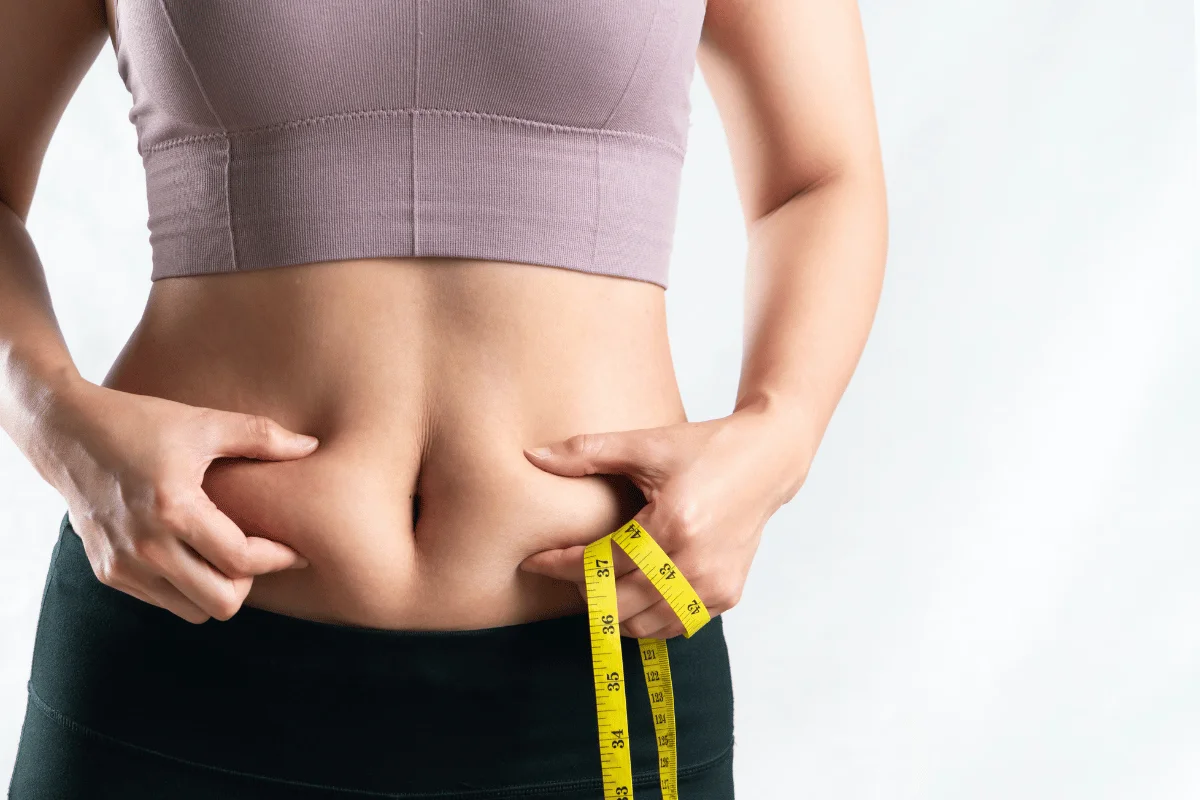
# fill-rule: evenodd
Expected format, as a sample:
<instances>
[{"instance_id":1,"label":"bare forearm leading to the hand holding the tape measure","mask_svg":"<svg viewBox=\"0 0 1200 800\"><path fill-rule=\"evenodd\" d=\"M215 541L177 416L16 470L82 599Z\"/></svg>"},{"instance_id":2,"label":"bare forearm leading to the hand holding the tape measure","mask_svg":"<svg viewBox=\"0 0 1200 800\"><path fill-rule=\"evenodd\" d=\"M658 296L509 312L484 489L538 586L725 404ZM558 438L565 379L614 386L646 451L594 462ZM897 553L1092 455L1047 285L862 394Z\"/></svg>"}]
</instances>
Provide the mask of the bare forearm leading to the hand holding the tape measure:
<instances>
[{"instance_id":1,"label":"bare forearm leading to the hand holding the tape measure","mask_svg":"<svg viewBox=\"0 0 1200 800\"><path fill-rule=\"evenodd\" d=\"M791 499L875 319L887 253L882 174L832 176L755 221L748 239L734 409L763 413L772 435L790 450L782 480Z\"/></svg>"}]
</instances>

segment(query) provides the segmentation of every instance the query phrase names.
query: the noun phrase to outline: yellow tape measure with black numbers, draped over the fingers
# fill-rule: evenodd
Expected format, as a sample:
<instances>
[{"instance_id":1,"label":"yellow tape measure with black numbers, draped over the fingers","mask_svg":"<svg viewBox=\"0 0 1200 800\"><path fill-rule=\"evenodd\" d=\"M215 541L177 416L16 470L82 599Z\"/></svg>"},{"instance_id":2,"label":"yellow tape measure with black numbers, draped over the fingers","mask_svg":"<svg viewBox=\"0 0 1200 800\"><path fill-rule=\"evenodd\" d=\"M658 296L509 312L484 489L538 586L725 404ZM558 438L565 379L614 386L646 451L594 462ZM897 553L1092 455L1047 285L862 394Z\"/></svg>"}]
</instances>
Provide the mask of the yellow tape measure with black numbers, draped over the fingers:
<instances>
[{"instance_id":1,"label":"yellow tape measure with black numbers, draped over the fingers","mask_svg":"<svg viewBox=\"0 0 1200 800\"><path fill-rule=\"evenodd\" d=\"M625 712L625 674L617 628L617 578L612 543L632 559L691 636L709 621L708 609L696 590L636 521L588 545L583 571L588 595L588 627L592 631L592 672L596 690L596 724L600 732L600 770L605 800L634 796L634 770L629 759L629 716ZM646 690L650 696L654 733L659 746L659 786L664 800L678 800L674 694L665 639L637 639Z\"/></svg>"}]
</instances>

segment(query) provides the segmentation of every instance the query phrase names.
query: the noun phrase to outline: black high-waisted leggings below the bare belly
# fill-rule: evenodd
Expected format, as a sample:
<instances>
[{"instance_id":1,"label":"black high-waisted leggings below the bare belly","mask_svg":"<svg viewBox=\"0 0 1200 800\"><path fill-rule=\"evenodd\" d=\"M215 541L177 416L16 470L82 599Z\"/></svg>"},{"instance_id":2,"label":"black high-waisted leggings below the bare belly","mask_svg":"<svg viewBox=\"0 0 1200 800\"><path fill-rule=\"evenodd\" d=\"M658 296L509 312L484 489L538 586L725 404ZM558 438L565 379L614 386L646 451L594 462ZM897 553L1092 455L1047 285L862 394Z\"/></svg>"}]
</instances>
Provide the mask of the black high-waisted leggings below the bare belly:
<instances>
[{"instance_id":1,"label":"black high-waisted leggings below the bare belly","mask_svg":"<svg viewBox=\"0 0 1200 800\"><path fill-rule=\"evenodd\" d=\"M623 638L635 800L660 799ZM668 639L682 800L733 798L718 616ZM600 800L584 615L389 631L253 607L193 625L100 583L66 516L42 596L11 800Z\"/></svg>"}]
</instances>

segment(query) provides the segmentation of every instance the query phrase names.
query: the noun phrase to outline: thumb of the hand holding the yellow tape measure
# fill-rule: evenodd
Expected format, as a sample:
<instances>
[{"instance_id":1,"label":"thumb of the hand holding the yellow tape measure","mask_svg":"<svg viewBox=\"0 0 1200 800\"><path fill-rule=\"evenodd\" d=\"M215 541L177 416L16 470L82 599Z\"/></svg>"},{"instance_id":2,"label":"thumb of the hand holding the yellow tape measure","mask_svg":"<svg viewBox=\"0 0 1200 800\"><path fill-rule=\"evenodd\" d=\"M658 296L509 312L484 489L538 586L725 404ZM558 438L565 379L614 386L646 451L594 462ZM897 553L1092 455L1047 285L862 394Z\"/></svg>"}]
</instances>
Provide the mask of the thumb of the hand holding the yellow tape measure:
<instances>
[{"instance_id":1,"label":"thumb of the hand holding the yellow tape measure","mask_svg":"<svg viewBox=\"0 0 1200 800\"><path fill-rule=\"evenodd\" d=\"M541 447L526 447L526 458L540 469L580 477L628 475L641 487L662 475L666 443L655 429L580 433Z\"/></svg>"}]
</instances>

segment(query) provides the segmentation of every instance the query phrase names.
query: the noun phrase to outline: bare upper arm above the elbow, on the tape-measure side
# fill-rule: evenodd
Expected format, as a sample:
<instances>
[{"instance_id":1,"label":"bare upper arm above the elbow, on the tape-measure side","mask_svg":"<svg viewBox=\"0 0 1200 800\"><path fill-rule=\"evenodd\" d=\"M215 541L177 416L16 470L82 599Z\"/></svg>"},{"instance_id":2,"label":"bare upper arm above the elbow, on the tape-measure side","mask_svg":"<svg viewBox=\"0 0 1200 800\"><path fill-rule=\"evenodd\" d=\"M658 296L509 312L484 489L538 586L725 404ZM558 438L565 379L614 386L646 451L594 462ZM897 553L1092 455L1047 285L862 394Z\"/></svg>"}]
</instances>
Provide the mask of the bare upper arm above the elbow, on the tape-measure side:
<instances>
[{"instance_id":1,"label":"bare upper arm above the elbow, on the tape-measure side","mask_svg":"<svg viewBox=\"0 0 1200 800\"><path fill-rule=\"evenodd\" d=\"M696 61L748 223L835 175L882 184L854 0L708 0Z\"/></svg>"}]
</instances>

